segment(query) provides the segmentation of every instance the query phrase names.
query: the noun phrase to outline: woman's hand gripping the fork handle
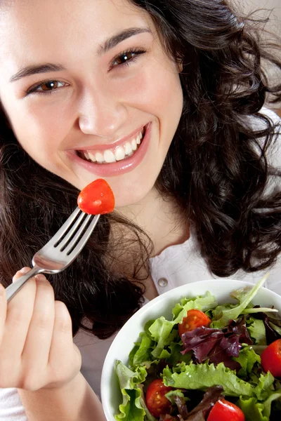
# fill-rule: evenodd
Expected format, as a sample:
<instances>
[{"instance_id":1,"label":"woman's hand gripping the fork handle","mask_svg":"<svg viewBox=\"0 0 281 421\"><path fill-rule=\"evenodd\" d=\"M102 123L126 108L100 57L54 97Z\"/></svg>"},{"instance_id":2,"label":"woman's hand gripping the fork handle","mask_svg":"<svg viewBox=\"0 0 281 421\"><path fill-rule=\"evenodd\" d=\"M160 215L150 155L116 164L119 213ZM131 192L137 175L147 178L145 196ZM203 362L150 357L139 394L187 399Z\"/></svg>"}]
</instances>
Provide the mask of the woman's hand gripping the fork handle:
<instances>
[{"instance_id":1,"label":"woman's hand gripping the fork handle","mask_svg":"<svg viewBox=\"0 0 281 421\"><path fill-rule=\"evenodd\" d=\"M17 272L13 282L29 269ZM55 301L42 274L27 281L8 305L0 287L0 387L35 391L67 385L79 373L81 354L65 304Z\"/></svg>"}]
</instances>

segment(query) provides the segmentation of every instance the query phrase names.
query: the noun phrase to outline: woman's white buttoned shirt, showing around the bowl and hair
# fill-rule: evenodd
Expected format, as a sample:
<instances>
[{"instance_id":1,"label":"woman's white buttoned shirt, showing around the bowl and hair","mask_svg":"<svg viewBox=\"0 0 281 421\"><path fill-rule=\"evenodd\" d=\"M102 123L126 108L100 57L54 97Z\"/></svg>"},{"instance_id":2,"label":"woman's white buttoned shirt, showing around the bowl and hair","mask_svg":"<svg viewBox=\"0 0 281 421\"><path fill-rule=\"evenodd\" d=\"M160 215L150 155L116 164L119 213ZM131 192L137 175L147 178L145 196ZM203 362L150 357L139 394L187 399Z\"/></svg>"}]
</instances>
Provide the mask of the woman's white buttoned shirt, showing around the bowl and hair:
<instances>
[{"instance_id":1,"label":"woman's white buttoned shirt, showing around the bowl and hair","mask_svg":"<svg viewBox=\"0 0 281 421\"><path fill-rule=\"evenodd\" d=\"M273 121L280 121L276 114L266 110L265 114ZM281 135L278 137L281 141ZM270 163L281 167L281 145L275 144L275 150L269 157ZM272 189L273 185L268 186ZM151 276L159 294L185 283L202 281L204 279L218 278L209 272L206 262L200 255L197 247L196 236L190 233L190 238L183 244L170 246L155 258L150 259ZM241 279L256 283L267 271L245 274L238 271L230 279ZM266 287L281 295L281 256L277 264L270 270L270 277ZM74 338L82 356L81 373L91 385L92 389L100 396L100 376L103 361L112 340L99 340L90 333L80 330ZM25 409L20 401L17 389L0 389L0 421L27 421Z\"/></svg>"}]
</instances>

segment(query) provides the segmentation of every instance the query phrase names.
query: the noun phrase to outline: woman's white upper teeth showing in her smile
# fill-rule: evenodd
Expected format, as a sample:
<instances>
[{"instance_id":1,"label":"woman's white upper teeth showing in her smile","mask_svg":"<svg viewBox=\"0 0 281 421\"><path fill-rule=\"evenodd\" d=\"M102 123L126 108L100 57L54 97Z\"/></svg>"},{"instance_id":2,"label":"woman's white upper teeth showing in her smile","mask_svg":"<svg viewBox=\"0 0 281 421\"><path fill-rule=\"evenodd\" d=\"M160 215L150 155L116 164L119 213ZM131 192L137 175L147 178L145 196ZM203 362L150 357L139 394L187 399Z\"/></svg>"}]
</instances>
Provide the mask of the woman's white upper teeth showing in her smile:
<instances>
[{"instance_id":1,"label":"woman's white upper teeth showing in her smile","mask_svg":"<svg viewBox=\"0 0 281 421\"><path fill-rule=\"evenodd\" d=\"M112 152L111 149L106 149L105 152L83 151L82 154L84 154L85 159L91 160L92 162L112 163L122 161L122 159L133 155L133 152L138 149L138 145L141 144L142 138L143 133L140 132L131 142L126 142L123 146L118 146L115 152Z\"/></svg>"}]
</instances>

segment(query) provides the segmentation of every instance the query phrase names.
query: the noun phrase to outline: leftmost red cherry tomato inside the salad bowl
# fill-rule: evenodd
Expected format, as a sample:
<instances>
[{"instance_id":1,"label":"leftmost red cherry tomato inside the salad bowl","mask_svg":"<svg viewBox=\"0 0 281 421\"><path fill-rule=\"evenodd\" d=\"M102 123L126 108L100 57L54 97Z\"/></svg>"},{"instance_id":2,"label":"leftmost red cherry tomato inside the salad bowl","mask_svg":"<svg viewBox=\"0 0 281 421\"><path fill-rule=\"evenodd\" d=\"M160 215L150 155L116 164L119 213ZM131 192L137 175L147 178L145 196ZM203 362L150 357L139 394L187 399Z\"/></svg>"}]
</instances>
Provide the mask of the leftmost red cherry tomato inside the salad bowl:
<instances>
[{"instance_id":1,"label":"leftmost red cherry tomato inside the salad bowl","mask_svg":"<svg viewBox=\"0 0 281 421\"><path fill-rule=\"evenodd\" d=\"M146 391L146 405L151 415L158 417L169 413L171 402L166 399L165 394L172 388L165 386L161 379L153 380Z\"/></svg>"}]
</instances>

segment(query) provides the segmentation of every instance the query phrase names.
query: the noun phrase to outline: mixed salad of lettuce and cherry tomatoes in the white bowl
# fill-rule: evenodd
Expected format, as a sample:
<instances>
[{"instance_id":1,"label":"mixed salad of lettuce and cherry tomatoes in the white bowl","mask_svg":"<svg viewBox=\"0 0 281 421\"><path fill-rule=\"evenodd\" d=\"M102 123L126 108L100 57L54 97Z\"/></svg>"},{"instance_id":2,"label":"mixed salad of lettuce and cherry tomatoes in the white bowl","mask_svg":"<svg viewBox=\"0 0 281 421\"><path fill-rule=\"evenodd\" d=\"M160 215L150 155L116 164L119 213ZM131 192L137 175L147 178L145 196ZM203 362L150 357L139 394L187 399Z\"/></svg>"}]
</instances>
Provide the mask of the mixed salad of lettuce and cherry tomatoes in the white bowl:
<instances>
[{"instance_id":1,"label":"mixed salad of lettuce and cherry tomatoes in the white bowl","mask_svg":"<svg viewBox=\"0 0 281 421\"><path fill-rule=\"evenodd\" d=\"M115 363L122 392L117 421L273 421L281 415L281 319L253 305L254 287L218 305L207 292L148 321Z\"/></svg>"}]
</instances>

